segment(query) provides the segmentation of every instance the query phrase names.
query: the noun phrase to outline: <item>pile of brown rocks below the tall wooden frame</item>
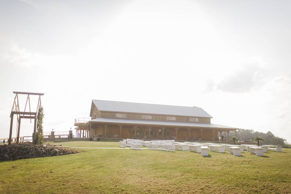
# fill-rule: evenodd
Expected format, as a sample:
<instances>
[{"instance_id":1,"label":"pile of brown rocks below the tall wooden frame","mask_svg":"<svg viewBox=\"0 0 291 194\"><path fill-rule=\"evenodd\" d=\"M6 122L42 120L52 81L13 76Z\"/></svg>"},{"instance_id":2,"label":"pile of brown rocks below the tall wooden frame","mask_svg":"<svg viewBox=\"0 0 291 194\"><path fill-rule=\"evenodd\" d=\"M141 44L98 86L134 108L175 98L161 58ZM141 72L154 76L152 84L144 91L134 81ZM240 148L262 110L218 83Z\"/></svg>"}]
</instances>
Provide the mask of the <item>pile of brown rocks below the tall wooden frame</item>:
<instances>
[{"instance_id":1,"label":"pile of brown rocks below the tall wooden frame","mask_svg":"<svg viewBox=\"0 0 291 194\"><path fill-rule=\"evenodd\" d=\"M32 145L28 143L13 143L0 145L0 161L38 158L48 156L61 156L79 153L76 150L59 148L56 145Z\"/></svg>"}]
</instances>

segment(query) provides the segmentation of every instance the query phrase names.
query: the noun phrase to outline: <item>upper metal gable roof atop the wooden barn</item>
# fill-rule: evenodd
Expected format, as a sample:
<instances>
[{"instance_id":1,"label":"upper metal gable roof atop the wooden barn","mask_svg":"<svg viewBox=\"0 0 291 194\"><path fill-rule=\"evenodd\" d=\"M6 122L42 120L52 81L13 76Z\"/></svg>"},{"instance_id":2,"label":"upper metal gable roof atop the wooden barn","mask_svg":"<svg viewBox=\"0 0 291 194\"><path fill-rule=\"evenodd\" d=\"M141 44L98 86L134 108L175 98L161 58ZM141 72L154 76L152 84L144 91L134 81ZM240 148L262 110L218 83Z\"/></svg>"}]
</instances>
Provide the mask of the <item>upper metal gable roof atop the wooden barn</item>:
<instances>
[{"instance_id":1,"label":"upper metal gable roof atop the wooden barn","mask_svg":"<svg viewBox=\"0 0 291 194\"><path fill-rule=\"evenodd\" d=\"M107 100L92 100L90 116L92 115L93 104L100 111L132 112L144 114L178 115L178 116L212 118L212 116L209 115L205 110L198 107L145 104L135 102L117 102Z\"/></svg>"}]
</instances>

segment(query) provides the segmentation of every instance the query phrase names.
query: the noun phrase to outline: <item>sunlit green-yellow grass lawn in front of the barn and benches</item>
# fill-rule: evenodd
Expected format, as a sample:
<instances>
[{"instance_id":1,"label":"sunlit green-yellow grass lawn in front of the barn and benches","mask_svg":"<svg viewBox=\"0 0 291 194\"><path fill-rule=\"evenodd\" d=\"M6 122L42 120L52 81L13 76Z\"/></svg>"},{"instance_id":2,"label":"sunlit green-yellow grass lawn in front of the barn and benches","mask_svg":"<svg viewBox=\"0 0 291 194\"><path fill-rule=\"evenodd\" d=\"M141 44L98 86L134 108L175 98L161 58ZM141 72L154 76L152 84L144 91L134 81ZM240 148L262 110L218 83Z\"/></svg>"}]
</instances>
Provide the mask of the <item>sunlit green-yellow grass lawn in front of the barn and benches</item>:
<instances>
[{"instance_id":1,"label":"sunlit green-yellow grass lawn in front of the barn and benches","mask_svg":"<svg viewBox=\"0 0 291 194\"><path fill-rule=\"evenodd\" d=\"M68 142L67 146L116 142ZM56 143L57 145L64 143ZM291 193L291 149L264 153L80 149L0 162L0 193Z\"/></svg>"}]
</instances>

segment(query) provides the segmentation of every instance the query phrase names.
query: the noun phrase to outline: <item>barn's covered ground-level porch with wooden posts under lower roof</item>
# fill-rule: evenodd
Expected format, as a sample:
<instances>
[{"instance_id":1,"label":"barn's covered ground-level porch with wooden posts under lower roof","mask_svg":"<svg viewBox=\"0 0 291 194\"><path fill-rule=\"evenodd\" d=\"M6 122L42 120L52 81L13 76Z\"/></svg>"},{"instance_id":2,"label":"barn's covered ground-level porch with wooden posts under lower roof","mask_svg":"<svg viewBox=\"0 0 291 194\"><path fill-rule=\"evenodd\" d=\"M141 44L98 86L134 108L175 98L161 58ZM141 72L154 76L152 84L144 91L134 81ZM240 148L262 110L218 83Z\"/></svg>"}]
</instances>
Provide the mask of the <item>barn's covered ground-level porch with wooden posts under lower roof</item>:
<instances>
[{"instance_id":1,"label":"barn's covered ground-level porch with wooden posts under lower roof","mask_svg":"<svg viewBox=\"0 0 291 194\"><path fill-rule=\"evenodd\" d=\"M171 123L172 124L172 123ZM174 123L173 123L174 124ZM186 125L187 123L183 123ZM177 125L129 124L126 122L86 122L75 128L78 138L117 139L175 139L178 141L230 141L229 132L236 129L217 127L193 127Z\"/></svg>"}]
</instances>

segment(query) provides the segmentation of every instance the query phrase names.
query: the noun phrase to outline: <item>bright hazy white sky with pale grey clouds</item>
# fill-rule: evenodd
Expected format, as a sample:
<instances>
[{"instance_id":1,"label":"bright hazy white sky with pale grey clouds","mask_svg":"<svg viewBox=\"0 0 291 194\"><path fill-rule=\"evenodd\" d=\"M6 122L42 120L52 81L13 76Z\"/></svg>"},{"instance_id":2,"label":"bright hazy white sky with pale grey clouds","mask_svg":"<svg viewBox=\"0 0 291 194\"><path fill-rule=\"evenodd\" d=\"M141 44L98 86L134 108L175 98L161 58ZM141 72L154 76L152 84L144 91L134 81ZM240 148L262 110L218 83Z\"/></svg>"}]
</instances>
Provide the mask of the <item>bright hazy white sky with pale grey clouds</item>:
<instances>
[{"instance_id":1,"label":"bright hazy white sky with pale grey clouds","mask_svg":"<svg viewBox=\"0 0 291 194\"><path fill-rule=\"evenodd\" d=\"M0 138L21 91L44 93L45 132L74 129L100 99L198 106L212 123L291 143L290 9L289 0L0 0ZM32 134L33 121L21 126Z\"/></svg>"}]
</instances>

